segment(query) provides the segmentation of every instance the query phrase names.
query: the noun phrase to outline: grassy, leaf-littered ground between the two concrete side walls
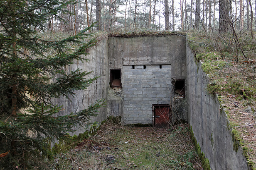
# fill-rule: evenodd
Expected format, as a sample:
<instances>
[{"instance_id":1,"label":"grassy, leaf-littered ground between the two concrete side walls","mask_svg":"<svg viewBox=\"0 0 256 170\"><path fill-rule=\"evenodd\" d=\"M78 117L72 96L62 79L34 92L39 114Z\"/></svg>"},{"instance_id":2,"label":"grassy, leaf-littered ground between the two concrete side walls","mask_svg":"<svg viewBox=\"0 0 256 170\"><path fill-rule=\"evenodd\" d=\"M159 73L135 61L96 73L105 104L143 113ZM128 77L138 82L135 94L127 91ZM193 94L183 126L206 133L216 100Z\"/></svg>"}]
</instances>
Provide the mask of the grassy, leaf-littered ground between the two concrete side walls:
<instances>
[{"instance_id":1,"label":"grassy, leaf-littered ground between the two concrete side walls","mask_svg":"<svg viewBox=\"0 0 256 170\"><path fill-rule=\"evenodd\" d=\"M94 136L54 157L52 168L202 170L189 127L133 127L105 123Z\"/></svg>"}]
</instances>

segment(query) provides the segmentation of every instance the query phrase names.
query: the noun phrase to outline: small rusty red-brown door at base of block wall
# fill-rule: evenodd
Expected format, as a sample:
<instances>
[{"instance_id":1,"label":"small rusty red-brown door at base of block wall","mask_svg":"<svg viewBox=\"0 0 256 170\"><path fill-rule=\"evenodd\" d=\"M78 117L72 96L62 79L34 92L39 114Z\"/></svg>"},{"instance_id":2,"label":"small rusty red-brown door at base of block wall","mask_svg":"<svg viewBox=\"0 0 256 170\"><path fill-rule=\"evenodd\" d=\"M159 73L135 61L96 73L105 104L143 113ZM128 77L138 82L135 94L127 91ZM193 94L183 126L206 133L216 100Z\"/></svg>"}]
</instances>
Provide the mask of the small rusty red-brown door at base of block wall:
<instances>
[{"instance_id":1,"label":"small rusty red-brown door at base of block wall","mask_svg":"<svg viewBox=\"0 0 256 170\"><path fill-rule=\"evenodd\" d=\"M155 127L167 127L170 123L169 105L154 106L154 125Z\"/></svg>"}]
</instances>

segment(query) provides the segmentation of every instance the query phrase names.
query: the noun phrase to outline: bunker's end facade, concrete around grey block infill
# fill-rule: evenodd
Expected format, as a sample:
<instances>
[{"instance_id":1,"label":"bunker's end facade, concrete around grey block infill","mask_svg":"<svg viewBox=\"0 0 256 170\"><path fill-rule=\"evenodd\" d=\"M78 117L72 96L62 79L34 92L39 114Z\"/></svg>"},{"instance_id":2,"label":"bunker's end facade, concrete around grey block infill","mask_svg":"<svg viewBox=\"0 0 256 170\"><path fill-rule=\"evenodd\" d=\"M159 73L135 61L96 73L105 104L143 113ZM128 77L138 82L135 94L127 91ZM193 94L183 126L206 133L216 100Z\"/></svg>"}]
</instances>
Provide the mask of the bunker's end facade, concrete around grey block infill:
<instances>
[{"instance_id":1,"label":"bunker's end facade, concrete around grey block infill","mask_svg":"<svg viewBox=\"0 0 256 170\"><path fill-rule=\"evenodd\" d=\"M122 89L117 95L122 98L119 103L124 125L155 125L155 105L175 108L174 112L169 109L168 117L172 118L165 118L164 126L187 117L187 107L182 106L185 95L175 93L174 89L182 86L180 94L185 92L186 43L182 36L108 38L108 47L110 77L113 70L121 70ZM117 90L112 78L109 83ZM174 103L173 97L177 97Z\"/></svg>"}]
</instances>

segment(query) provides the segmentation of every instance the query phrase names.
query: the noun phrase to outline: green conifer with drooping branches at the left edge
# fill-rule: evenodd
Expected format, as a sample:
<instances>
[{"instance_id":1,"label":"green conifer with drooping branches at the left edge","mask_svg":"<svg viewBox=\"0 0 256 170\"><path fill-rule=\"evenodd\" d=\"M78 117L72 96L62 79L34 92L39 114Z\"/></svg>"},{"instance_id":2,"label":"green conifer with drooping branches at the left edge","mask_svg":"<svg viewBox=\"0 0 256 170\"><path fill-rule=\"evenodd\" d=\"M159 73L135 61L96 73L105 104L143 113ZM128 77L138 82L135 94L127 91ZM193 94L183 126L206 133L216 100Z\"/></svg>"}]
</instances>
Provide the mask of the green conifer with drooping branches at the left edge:
<instances>
[{"instance_id":1,"label":"green conifer with drooping branches at the left edge","mask_svg":"<svg viewBox=\"0 0 256 170\"><path fill-rule=\"evenodd\" d=\"M59 18L71 3L0 1L0 167L37 166L47 155L45 139L67 138L102 106L98 101L78 113L56 116L62 107L51 103L51 98L76 95L74 90L86 89L97 78L86 79L90 72L80 69L63 71L76 60L86 61L86 50L96 43L94 38L84 43L90 28L59 41L39 36L48 19Z\"/></svg>"}]
</instances>

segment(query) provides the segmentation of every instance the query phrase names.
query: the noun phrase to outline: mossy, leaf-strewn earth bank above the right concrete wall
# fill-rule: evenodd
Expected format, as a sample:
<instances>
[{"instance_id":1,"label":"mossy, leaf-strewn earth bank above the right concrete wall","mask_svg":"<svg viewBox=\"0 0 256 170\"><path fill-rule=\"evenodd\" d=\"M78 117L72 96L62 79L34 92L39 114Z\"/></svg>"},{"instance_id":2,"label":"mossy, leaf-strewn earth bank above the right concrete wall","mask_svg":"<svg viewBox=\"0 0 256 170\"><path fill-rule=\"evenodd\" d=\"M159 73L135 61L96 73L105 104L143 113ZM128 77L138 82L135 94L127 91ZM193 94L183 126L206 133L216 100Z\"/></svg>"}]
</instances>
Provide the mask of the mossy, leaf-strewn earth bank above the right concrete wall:
<instances>
[{"instance_id":1,"label":"mossy, leaf-strewn earth bank above the right concrete wall","mask_svg":"<svg viewBox=\"0 0 256 170\"><path fill-rule=\"evenodd\" d=\"M226 128L243 148L251 168L256 168L256 40L248 32L238 36L237 53L231 34L195 31L187 38L195 61L201 60L209 76L207 91L218 94L226 111L230 122Z\"/></svg>"}]
</instances>

